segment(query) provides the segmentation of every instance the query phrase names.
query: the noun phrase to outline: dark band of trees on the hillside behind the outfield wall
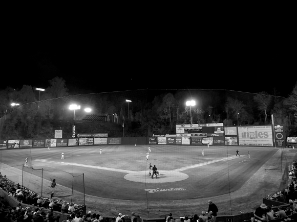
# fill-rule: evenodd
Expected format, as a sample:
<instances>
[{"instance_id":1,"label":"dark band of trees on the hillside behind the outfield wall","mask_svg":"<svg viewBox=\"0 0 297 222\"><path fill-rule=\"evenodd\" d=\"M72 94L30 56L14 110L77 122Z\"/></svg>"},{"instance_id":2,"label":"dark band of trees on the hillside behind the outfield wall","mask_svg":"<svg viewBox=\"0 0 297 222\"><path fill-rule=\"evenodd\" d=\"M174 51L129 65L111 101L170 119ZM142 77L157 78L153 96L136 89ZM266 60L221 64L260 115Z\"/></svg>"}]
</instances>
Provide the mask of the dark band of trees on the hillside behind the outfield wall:
<instances>
[{"instance_id":1,"label":"dark band of trees on the hillside behind the outfield wall","mask_svg":"<svg viewBox=\"0 0 297 222\"><path fill-rule=\"evenodd\" d=\"M127 103L126 100L131 100ZM186 101L196 101L186 106ZM12 103L19 104L12 107ZM83 110L69 110L70 104L92 109L102 121L83 121ZM223 122L224 126L282 125L288 136L297 134L297 83L287 98L277 92L258 93L230 90L127 90L71 95L65 80L56 77L45 91L24 85L0 91L0 138L53 138L55 129L71 136L73 121L80 133L110 132L111 136L176 134L177 124ZM90 113L89 113L90 115ZM83 130L83 132L82 132ZM90 132L88 132L90 131Z\"/></svg>"}]
</instances>

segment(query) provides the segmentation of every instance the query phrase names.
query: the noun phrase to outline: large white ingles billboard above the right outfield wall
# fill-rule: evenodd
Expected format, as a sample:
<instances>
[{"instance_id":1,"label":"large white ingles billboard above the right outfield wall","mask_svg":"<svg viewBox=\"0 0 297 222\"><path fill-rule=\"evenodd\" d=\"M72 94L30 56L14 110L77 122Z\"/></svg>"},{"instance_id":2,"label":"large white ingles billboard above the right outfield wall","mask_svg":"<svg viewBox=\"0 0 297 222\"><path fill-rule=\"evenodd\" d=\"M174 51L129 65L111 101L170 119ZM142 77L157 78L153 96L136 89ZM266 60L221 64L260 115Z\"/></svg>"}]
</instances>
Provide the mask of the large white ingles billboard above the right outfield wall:
<instances>
[{"instance_id":1,"label":"large white ingles billboard above the right outfield wall","mask_svg":"<svg viewBox=\"0 0 297 222\"><path fill-rule=\"evenodd\" d=\"M271 126L238 127L239 145L273 146Z\"/></svg>"}]
</instances>

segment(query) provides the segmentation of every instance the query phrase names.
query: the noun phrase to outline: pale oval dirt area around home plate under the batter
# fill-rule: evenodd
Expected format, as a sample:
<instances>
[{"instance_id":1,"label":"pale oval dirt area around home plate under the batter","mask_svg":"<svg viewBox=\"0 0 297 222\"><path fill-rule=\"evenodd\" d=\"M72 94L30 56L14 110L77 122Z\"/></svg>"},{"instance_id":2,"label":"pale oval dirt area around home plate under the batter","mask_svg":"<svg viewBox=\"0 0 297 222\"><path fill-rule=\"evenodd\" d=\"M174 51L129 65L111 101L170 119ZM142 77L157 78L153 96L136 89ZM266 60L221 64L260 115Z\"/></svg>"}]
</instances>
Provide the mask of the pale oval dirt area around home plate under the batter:
<instances>
[{"instance_id":1,"label":"pale oval dirt area around home plate under the batter","mask_svg":"<svg viewBox=\"0 0 297 222\"><path fill-rule=\"evenodd\" d=\"M183 172L162 170L160 172L160 178L152 179L152 176L149 176L149 170L143 170L138 172L131 172L124 176L124 179L139 182L139 183L168 183L168 182L176 182L187 179L189 176L184 174Z\"/></svg>"}]
</instances>

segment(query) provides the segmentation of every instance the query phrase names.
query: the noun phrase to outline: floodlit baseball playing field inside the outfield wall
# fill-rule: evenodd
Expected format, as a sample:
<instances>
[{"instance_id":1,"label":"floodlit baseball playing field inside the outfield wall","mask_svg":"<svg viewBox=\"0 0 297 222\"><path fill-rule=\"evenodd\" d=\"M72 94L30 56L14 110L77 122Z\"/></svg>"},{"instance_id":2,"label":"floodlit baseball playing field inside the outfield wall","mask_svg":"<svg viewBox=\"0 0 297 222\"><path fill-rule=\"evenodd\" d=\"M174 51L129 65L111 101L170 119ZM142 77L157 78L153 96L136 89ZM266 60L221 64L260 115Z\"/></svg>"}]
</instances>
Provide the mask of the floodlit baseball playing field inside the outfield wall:
<instances>
[{"instance_id":1,"label":"floodlit baseball playing field inside the outfield wall","mask_svg":"<svg viewBox=\"0 0 297 222\"><path fill-rule=\"evenodd\" d=\"M50 179L56 179L56 199L84 203L103 216L200 214L208 200L226 215L251 212L264 196L281 190L284 166L295 159L295 151L185 145L10 149L1 150L1 173L45 197L50 197ZM150 163L158 168L157 179L149 175Z\"/></svg>"}]
</instances>

